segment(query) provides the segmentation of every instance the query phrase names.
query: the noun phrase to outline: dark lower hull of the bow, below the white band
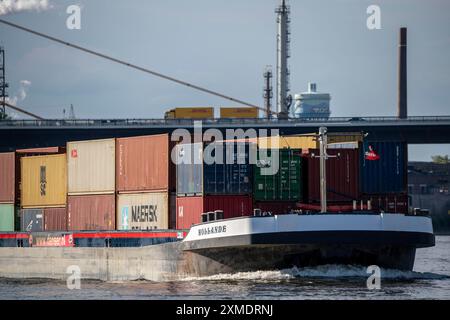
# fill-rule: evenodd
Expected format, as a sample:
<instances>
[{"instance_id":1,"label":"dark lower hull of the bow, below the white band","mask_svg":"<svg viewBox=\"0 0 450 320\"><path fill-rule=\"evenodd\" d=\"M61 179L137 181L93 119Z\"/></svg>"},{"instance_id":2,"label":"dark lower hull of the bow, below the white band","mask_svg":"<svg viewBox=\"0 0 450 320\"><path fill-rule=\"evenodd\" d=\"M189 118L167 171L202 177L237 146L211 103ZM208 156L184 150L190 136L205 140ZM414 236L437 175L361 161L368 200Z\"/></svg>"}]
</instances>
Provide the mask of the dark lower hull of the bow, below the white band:
<instances>
[{"instance_id":1,"label":"dark lower hull of the bow, below the white band","mask_svg":"<svg viewBox=\"0 0 450 320\"><path fill-rule=\"evenodd\" d=\"M434 236L408 232L299 232L193 241L189 273L207 276L326 264L377 265L412 271L416 248Z\"/></svg>"}]
</instances>

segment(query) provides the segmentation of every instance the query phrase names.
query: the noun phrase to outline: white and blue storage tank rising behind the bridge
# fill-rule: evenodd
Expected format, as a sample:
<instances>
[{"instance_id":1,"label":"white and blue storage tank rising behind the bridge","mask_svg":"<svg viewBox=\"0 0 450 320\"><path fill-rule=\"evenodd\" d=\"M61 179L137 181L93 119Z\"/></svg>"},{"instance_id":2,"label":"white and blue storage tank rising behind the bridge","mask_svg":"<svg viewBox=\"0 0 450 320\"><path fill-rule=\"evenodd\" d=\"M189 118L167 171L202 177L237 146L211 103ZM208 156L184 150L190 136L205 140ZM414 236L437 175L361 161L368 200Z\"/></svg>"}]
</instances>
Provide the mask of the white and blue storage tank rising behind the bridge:
<instances>
[{"instance_id":1,"label":"white and blue storage tank rising behind the bridge","mask_svg":"<svg viewBox=\"0 0 450 320\"><path fill-rule=\"evenodd\" d=\"M294 118L325 118L330 117L329 93L317 92L315 83L308 83L308 91L294 96Z\"/></svg>"}]
</instances>

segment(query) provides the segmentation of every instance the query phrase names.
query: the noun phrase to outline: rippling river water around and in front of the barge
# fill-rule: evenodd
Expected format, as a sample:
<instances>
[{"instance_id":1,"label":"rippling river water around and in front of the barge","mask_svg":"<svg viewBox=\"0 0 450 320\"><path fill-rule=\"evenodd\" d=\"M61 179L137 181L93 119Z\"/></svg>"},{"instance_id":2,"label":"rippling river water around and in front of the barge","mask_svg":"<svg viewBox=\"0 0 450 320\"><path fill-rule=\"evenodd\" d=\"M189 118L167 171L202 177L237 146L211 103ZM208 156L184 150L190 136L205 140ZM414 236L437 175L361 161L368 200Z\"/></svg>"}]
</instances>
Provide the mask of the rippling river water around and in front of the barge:
<instances>
[{"instance_id":1,"label":"rippling river water around and in front of the barge","mask_svg":"<svg viewBox=\"0 0 450 320\"><path fill-rule=\"evenodd\" d=\"M176 282L66 282L0 279L0 299L450 299L450 236L419 249L413 272L381 270L367 289L364 267L328 265L188 278Z\"/></svg>"}]
</instances>

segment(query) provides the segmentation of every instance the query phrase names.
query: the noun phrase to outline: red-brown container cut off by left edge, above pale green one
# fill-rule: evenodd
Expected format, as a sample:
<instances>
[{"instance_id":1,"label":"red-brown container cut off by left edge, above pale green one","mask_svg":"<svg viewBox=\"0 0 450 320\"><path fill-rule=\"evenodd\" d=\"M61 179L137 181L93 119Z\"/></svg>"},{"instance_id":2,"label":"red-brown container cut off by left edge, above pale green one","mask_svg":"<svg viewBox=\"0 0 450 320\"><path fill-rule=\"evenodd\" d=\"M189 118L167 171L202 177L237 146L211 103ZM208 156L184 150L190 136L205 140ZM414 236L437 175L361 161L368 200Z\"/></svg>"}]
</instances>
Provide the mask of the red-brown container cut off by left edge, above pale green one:
<instances>
[{"instance_id":1,"label":"red-brown container cut off by left edge, above pale green one","mask_svg":"<svg viewBox=\"0 0 450 320\"><path fill-rule=\"evenodd\" d=\"M0 203L16 202L18 168L14 152L0 153Z\"/></svg>"}]
</instances>

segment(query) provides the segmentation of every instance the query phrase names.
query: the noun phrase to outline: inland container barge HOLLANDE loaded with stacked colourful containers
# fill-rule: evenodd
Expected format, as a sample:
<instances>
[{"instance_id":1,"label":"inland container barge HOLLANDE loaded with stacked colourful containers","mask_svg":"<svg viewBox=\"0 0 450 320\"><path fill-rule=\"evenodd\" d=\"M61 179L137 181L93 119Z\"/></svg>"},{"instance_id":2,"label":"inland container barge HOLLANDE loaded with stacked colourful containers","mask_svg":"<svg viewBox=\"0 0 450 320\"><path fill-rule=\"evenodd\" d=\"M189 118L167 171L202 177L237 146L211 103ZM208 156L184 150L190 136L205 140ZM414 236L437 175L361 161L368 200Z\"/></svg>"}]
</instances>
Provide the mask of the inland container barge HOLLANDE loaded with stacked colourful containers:
<instances>
[{"instance_id":1,"label":"inland container barge HOLLANDE loaded with stacked colourful containers","mask_svg":"<svg viewBox=\"0 0 450 320\"><path fill-rule=\"evenodd\" d=\"M66 279L74 266L105 281L412 270L416 249L434 246L430 217L409 210L403 142L325 128L232 142L233 161L212 164L210 143L169 134L0 154L0 277Z\"/></svg>"}]
</instances>

